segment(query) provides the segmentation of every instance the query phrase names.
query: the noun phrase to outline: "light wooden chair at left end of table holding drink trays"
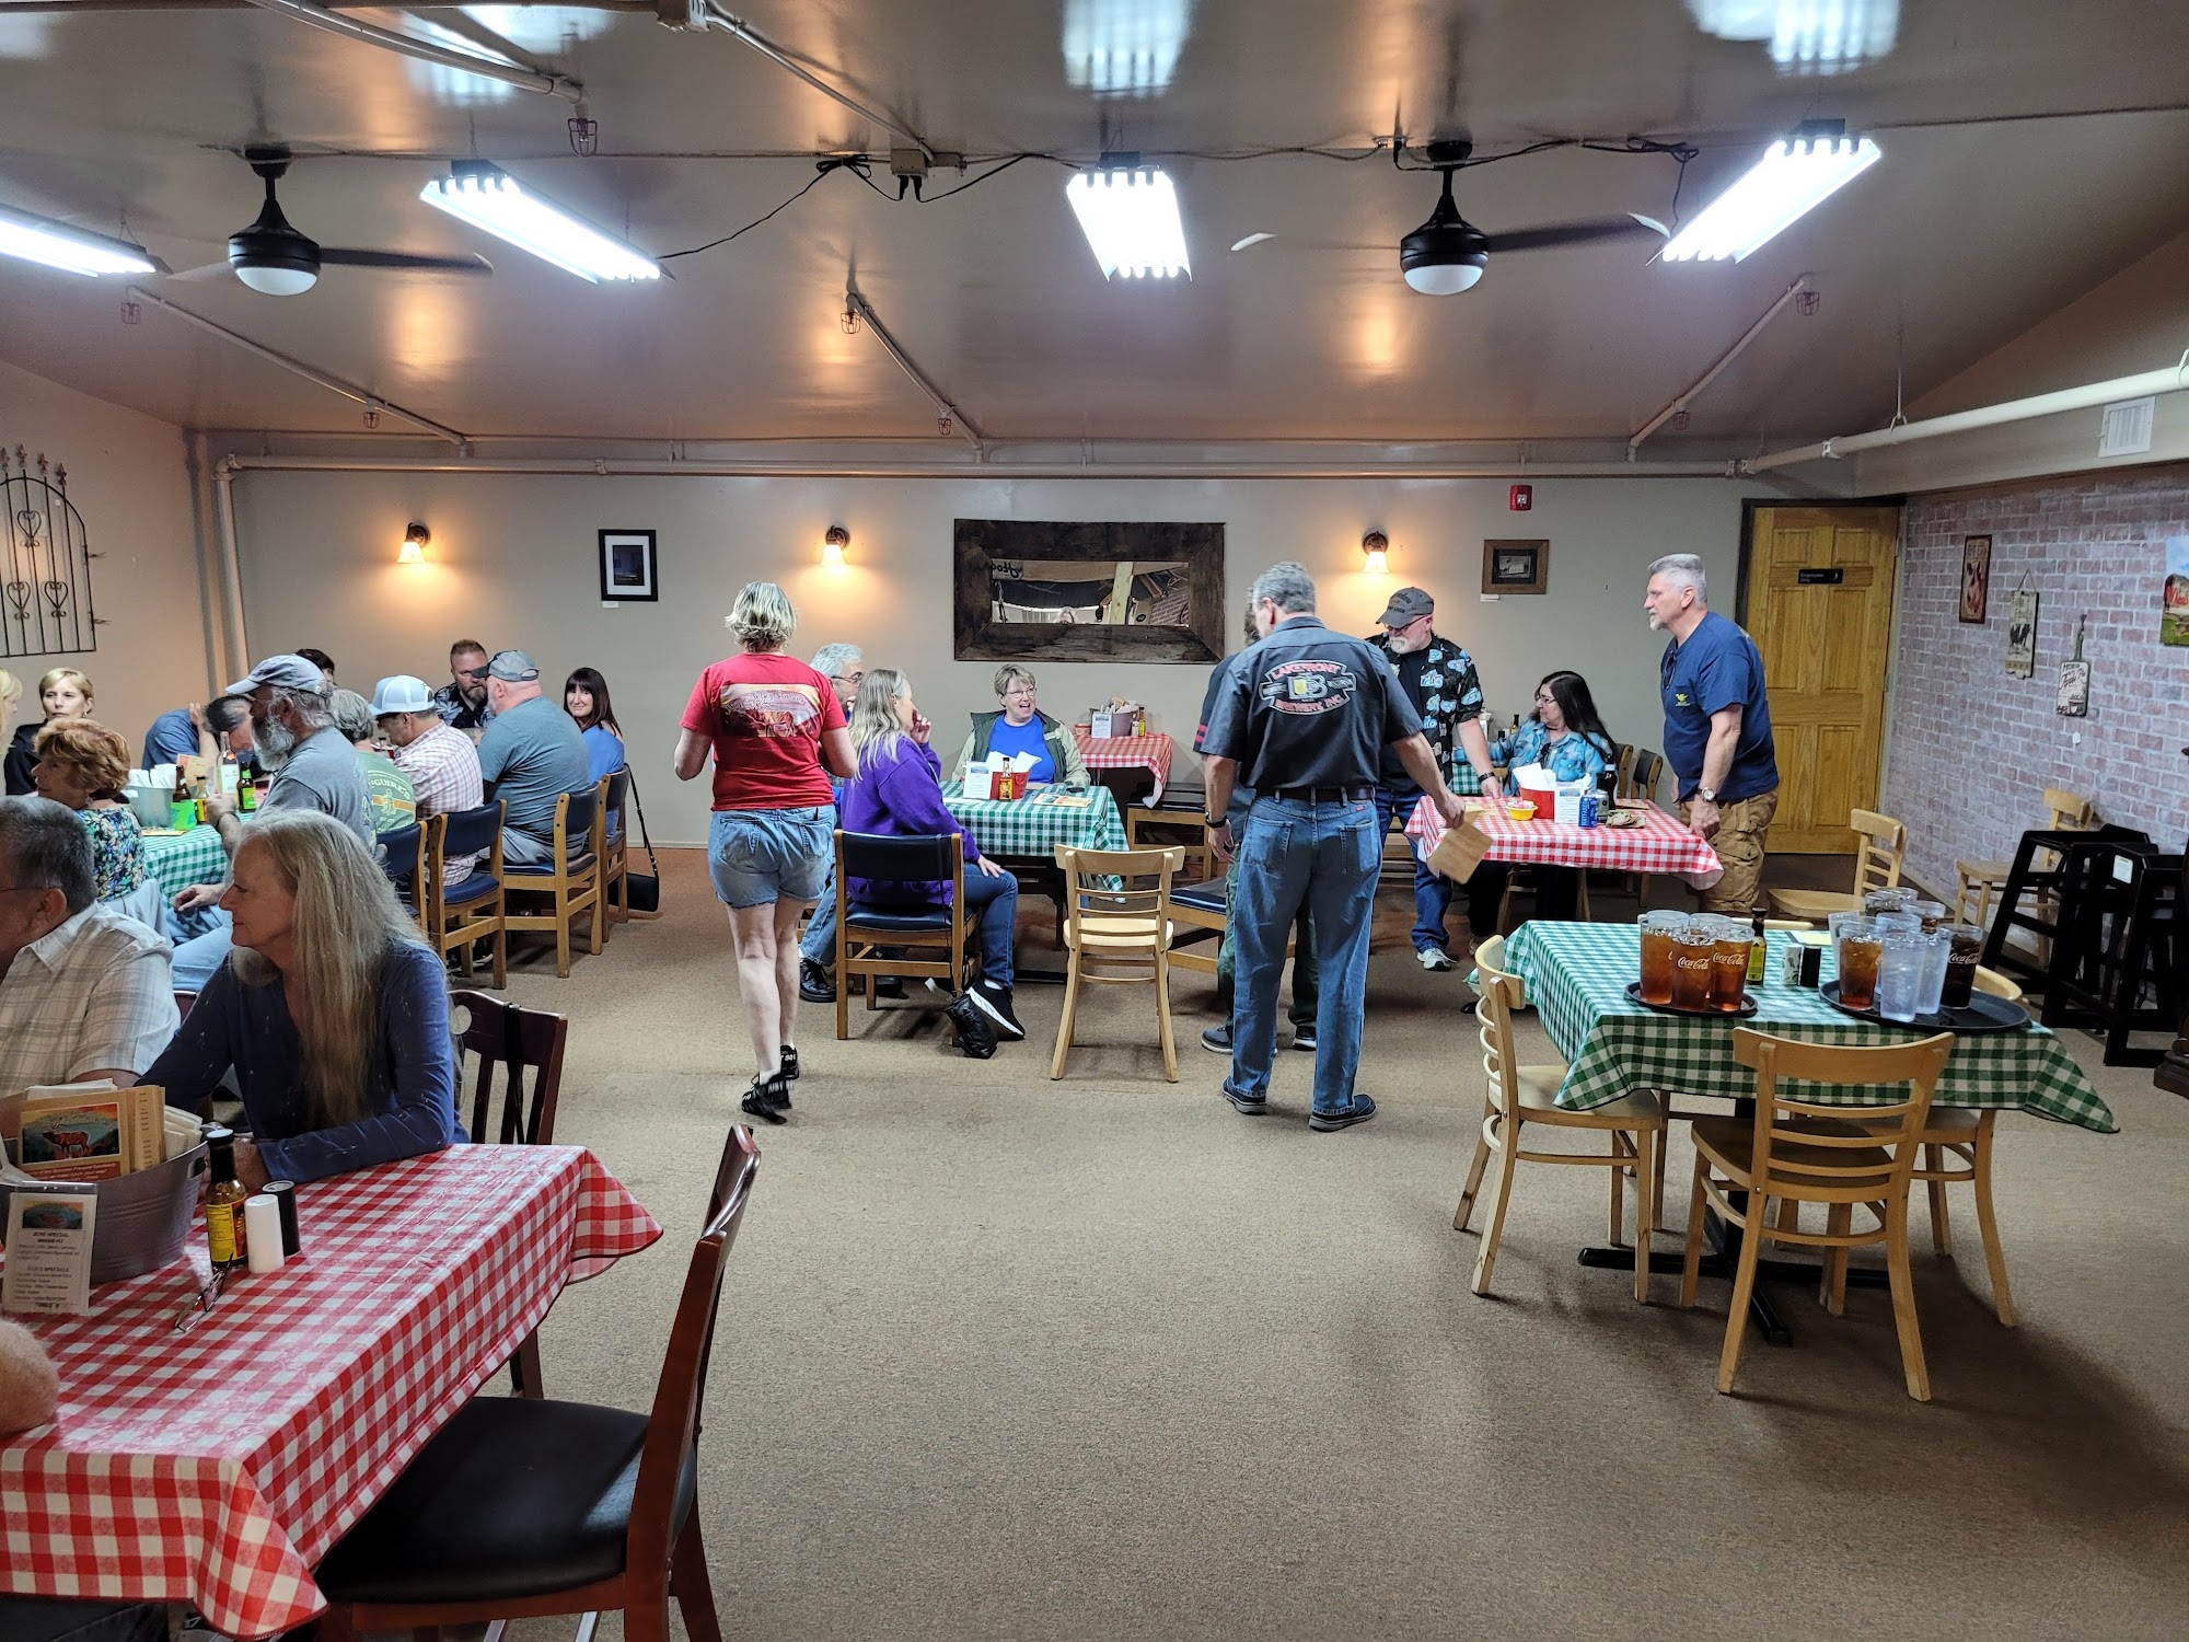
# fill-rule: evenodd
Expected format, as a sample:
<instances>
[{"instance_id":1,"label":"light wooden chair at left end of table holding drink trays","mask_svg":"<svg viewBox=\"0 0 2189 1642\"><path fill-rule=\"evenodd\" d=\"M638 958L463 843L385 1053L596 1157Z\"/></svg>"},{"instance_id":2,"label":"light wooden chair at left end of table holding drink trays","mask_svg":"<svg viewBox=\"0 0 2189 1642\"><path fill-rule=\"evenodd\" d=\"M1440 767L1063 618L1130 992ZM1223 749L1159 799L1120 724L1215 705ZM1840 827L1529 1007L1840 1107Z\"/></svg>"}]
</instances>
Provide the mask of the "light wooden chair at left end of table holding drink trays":
<instances>
[{"instance_id":1,"label":"light wooden chair at left end of table holding drink trays","mask_svg":"<svg viewBox=\"0 0 2189 1642\"><path fill-rule=\"evenodd\" d=\"M1482 1250L1475 1254L1473 1292L1491 1292L1491 1268L1497 1265L1497 1244L1504 1237L1506 1209L1513 1202L1513 1169L1519 1163L1567 1163L1589 1169L1611 1169L1611 1241L1620 1241L1626 1230L1624 1182L1626 1171L1635 1176L1635 1298L1648 1300L1648 1244L1657 1224L1657 1158L1664 1152L1666 1121L1664 1103L1648 1090L1622 1095L1615 1101L1587 1112L1567 1112L1559 1106L1559 1086L1565 1082L1563 1060L1539 1066L1519 1066L1513 1051L1513 1009L1521 1003L1521 981L1504 968L1504 937L1475 946L1475 972L1480 974L1480 1003L1475 1007L1475 1036L1482 1040L1482 1071L1489 1086L1482 1097L1482 1134L1475 1138L1473 1163L1467 1165L1467 1184L1460 1189L1460 1209L1451 1215L1453 1230L1467 1230L1475 1209L1475 1193L1491 1156L1499 1158L1497 1180L1491 1187L1491 1224L1482 1233ZM1524 1145L1528 1128L1565 1130L1583 1134L1605 1134L1609 1152L1530 1152Z\"/></svg>"}]
</instances>

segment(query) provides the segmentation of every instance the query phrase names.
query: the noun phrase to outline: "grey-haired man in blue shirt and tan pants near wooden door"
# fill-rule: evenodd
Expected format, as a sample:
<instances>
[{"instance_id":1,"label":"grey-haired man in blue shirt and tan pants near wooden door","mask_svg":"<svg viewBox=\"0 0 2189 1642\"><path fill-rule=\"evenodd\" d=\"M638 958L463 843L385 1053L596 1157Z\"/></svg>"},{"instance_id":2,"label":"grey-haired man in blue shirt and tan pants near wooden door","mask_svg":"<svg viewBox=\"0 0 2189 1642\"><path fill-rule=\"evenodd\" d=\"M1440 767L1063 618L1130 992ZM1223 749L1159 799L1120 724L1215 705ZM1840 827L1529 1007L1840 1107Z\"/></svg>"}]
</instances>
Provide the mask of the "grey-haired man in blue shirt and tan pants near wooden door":
<instances>
[{"instance_id":1,"label":"grey-haired man in blue shirt and tan pants near wooden door","mask_svg":"<svg viewBox=\"0 0 2189 1642\"><path fill-rule=\"evenodd\" d=\"M1670 633L1657 681L1664 692L1664 760L1688 828L1718 852L1725 876L1703 891L1703 911L1747 917L1764 876L1764 834L1777 812L1777 751L1756 639L1710 609L1703 560L1666 554L1642 593L1648 624Z\"/></svg>"}]
</instances>

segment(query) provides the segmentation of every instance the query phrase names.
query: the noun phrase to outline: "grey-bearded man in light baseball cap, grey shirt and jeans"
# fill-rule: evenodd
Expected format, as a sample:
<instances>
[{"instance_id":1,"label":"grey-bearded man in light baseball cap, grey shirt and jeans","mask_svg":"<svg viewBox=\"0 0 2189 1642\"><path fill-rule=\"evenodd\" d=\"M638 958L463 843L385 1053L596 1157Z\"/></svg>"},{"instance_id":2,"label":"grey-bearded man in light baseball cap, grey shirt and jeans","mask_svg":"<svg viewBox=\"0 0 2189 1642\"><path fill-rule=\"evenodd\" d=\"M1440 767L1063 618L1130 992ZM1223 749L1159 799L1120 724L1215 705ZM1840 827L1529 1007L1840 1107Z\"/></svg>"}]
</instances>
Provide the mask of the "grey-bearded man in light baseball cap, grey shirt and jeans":
<instances>
[{"instance_id":1,"label":"grey-bearded man in light baseball cap, grey shirt and jeans","mask_svg":"<svg viewBox=\"0 0 2189 1642\"><path fill-rule=\"evenodd\" d=\"M366 779L357 773L357 749L335 727L326 701L326 677L300 655L274 655L247 679L228 685L230 696L252 703L252 744L274 782L260 810L320 810L372 843L372 810ZM206 795L206 821L221 832L221 847L234 860L245 819L234 793ZM212 972L228 961L228 913L215 902L228 884L190 884L175 895L171 935L175 944L175 990L204 992Z\"/></svg>"}]
</instances>

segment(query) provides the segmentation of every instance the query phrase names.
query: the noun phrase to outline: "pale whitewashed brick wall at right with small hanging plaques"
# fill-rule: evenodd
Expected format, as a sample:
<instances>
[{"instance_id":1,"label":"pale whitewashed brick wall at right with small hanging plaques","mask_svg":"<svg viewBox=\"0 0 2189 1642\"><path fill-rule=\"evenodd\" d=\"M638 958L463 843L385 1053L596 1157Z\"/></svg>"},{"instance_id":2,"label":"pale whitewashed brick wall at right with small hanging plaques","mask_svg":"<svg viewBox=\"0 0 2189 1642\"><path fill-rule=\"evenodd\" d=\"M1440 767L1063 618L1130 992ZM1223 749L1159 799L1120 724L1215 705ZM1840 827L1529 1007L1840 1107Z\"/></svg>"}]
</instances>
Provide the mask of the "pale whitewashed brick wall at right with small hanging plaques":
<instances>
[{"instance_id":1,"label":"pale whitewashed brick wall at right with small hanging plaques","mask_svg":"<svg viewBox=\"0 0 2189 1642\"><path fill-rule=\"evenodd\" d=\"M1957 620L1961 539L1992 539L1983 626ZM1950 891L1955 858L2010 860L2042 793L2088 795L2167 849L2189 830L2189 648L2158 644L2167 536L2189 536L2189 473L2093 475L1907 508L1885 810L1909 876ZM2007 677L2007 595L2038 591L2036 674ZM2088 613L2090 716L2060 718L2060 663ZM2071 738L2082 731L2082 742Z\"/></svg>"}]
</instances>

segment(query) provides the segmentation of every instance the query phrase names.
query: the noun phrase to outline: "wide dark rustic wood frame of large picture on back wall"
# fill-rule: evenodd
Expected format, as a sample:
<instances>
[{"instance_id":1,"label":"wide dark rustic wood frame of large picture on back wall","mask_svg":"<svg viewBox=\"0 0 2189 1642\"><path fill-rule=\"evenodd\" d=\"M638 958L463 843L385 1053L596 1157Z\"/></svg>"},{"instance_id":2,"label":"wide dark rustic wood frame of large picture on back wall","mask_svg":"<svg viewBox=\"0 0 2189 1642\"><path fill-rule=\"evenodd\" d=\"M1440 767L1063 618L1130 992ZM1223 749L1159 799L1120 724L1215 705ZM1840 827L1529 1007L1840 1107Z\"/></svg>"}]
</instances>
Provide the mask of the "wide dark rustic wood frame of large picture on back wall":
<instances>
[{"instance_id":1,"label":"wide dark rustic wood frame of large picture on back wall","mask_svg":"<svg viewBox=\"0 0 2189 1642\"><path fill-rule=\"evenodd\" d=\"M1119 563L1175 558L1191 585L1189 626L1038 626L989 617L989 565L998 558ZM952 655L959 661L1182 661L1224 657L1221 523L952 521Z\"/></svg>"}]
</instances>

